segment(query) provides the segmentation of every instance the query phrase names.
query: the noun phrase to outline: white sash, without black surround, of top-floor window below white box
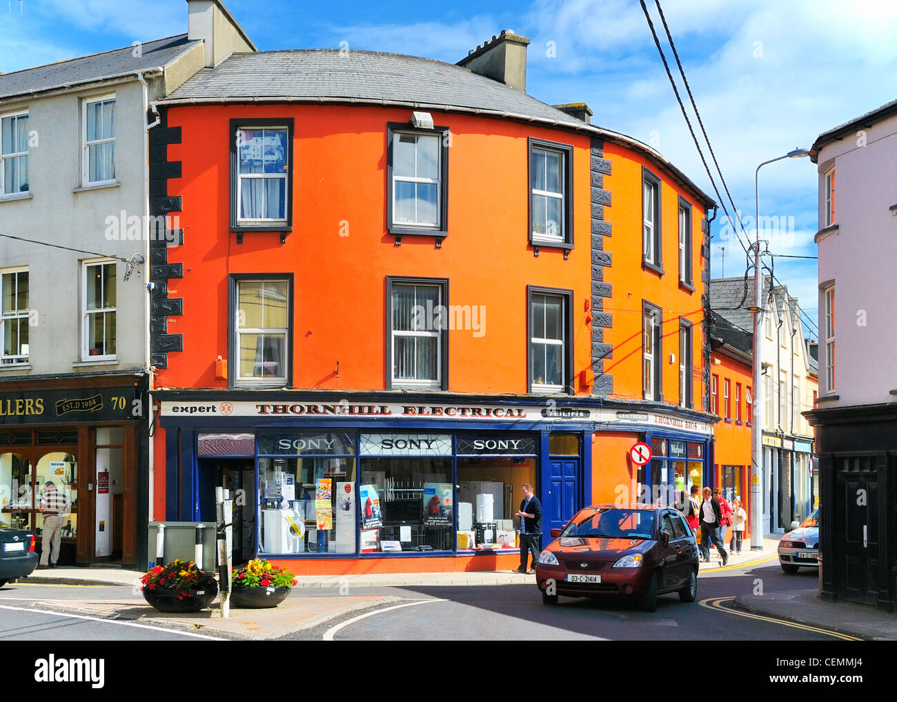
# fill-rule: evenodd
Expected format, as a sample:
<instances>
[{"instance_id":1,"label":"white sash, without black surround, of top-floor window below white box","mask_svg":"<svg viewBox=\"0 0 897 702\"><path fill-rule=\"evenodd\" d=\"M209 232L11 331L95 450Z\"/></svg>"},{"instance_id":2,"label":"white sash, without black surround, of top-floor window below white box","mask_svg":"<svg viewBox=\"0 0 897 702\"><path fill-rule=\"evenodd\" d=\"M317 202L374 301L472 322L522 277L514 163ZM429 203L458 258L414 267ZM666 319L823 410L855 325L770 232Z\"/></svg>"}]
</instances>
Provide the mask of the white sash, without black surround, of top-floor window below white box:
<instances>
[{"instance_id":1,"label":"white sash, without black surround, of top-floor window below white box","mask_svg":"<svg viewBox=\"0 0 897 702\"><path fill-rule=\"evenodd\" d=\"M442 222L442 134L392 133L394 227L439 229Z\"/></svg>"}]
</instances>

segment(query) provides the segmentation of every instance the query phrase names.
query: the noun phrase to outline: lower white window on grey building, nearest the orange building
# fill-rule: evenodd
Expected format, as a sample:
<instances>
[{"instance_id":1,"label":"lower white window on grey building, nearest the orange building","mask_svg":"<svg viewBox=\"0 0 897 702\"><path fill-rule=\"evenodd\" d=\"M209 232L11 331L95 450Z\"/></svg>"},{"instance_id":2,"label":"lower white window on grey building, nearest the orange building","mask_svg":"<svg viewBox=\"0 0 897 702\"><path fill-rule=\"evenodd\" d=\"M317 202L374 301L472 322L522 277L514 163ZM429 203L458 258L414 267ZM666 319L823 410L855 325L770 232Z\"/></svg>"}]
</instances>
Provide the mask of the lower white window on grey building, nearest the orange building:
<instances>
[{"instance_id":1,"label":"lower white window on grey building, nearest the orange building","mask_svg":"<svg viewBox=\"0 0 897 702\"><path fill-rule=\"evenodd\" d=\"M116 266L111 258L82 264L83 361L115 359Z\"/></svg>"}]
</instances>

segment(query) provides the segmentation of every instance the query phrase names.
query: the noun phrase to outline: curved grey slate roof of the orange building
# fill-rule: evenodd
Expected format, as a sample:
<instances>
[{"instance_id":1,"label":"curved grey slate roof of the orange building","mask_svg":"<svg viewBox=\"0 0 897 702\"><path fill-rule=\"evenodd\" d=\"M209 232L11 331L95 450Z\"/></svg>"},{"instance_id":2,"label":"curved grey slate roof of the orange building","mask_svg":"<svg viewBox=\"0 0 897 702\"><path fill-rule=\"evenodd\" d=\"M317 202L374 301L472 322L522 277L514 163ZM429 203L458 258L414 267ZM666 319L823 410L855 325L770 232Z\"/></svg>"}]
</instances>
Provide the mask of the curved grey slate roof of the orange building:
<instances>
[{"instance_id":1,"label":"curved grey slate roof of the orange building","mask_svg":"<svg viewBox=\"0 0 897 702\"><path fill-rule=\"evenodd\" d=\"M458 65L376 51L294 49L233 53L204 68L159 104L194 102L333 102L470 111L539 121L624 143L670 169L707 206L715 205L682 171L648 144L590 125Z\"/></svg>"}]
</instances>

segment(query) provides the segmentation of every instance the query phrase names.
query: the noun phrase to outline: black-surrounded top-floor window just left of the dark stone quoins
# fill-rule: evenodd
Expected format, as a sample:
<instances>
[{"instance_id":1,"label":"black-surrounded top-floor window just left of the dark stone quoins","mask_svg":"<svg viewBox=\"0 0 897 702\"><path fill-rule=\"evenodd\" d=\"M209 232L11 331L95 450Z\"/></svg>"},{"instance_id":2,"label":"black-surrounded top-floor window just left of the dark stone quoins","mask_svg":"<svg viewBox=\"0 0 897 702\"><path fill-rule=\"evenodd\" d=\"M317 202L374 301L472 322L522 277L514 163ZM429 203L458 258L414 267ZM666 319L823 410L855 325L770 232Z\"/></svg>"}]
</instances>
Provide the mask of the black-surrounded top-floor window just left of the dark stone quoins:
<instances>
[{"instance_id":1,"label":"black-surrounded top-floor window just left of the dark stone quoins","mask_svg":"<svg viewBox=\"0 0 897 702\"><path fill-rule=\"evenodd\" d=\"M536 246L573 245L573 149L529 140L529 240Z\"/></svg>"}]
</instances>

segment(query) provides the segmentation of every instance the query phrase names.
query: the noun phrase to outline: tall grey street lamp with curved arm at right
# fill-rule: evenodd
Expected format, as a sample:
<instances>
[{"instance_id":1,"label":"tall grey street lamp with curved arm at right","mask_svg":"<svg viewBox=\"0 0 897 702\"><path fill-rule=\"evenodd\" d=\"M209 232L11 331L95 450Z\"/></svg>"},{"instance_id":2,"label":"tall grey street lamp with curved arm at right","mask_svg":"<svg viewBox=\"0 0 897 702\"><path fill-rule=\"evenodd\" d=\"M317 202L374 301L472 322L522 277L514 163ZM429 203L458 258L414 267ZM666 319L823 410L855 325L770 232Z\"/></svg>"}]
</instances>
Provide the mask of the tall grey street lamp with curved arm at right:
<instances>
[{"instance_id":1,"label":"tall grey street lamp with curved arm at right","mask_svg":"<svg viewBox=\"0 0 897 702\"><path fill-rule=\"evenodd\" d=\"M763 462L763 388L760 360L760 334L763 311L762 275L760 274L760 169L783 159L809 156L807 149L795 149L778 159L764 160L753 174L753 221L756 227L753 243L753 415L751 424L751 549L763 548L762 462Z\"/></svg>"}]
</instances>

